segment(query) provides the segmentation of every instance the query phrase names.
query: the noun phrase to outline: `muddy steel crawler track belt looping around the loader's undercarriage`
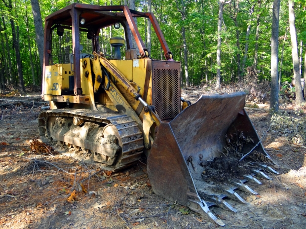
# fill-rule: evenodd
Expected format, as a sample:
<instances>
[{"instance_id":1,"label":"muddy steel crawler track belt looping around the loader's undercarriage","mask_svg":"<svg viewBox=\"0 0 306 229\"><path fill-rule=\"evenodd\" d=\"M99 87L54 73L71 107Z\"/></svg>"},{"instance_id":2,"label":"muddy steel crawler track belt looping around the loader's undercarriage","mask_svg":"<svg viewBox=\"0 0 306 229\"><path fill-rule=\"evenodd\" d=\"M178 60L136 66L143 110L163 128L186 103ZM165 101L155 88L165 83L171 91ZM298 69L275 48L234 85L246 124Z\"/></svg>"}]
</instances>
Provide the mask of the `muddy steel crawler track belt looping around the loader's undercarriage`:
<instances>
[{"instance_id":1,"label":"muddy steel crawler track belt looping around the loader's undercarriage","mask_svg":"<svg viewBox=\"0 0 306 229\"><path fill-rule=\"evenodd\" d=\"M118 151L118 156L112 165L103 164L102 167L106 170L117 171L126 168L138 161L143 153L142 150L144 146L142 132L137 123L130 116L127 116L126 114L101 113L87 109L57 109L41 112L38 116L38 132L42 142L51 143L54 140L60 141L58 136L55 137L52 135L52 131L49 129L50 120L58 117L66 120L77 117L83 119L84 122L99 124L101 128L109 124L115 126L121 140L119 141L120 144L118 144L120 150ZM90 147L94 144L96 143L89 142L88 144L87 142L87 144L84 145L78 144L77 148L82 148L83 152L91 152L92 159L95 160L97 152L94 151L93 147ZM69 145L69 143L66 143L66 145ZM85 146L87 146L87 148ZM95 146L95 149L97 149L97 146Z\"/></svg>"}]
</instances>

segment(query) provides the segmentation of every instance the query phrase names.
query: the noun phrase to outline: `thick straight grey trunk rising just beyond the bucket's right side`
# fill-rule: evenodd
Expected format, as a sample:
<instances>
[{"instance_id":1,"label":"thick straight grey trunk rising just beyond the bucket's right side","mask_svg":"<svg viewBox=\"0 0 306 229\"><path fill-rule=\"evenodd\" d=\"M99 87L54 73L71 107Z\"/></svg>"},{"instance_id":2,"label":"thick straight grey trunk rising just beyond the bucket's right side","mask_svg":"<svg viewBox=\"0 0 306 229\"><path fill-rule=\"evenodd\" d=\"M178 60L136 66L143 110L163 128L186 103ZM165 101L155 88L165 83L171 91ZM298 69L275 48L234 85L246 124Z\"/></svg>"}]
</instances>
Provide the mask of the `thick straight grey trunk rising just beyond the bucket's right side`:
<instances>
[{"instance_id":1,"label":"thick straight grey trunk rising just beyond the bucket's right side","mask_svg":"<svg viewBox=\"0 0 306 229\"><path fill-rule=\"evenodd\" d=\"M271 35L271 97L270 110L278 111L278 27L280 0L273 1Z\"/></svg>"}]
</instances>

